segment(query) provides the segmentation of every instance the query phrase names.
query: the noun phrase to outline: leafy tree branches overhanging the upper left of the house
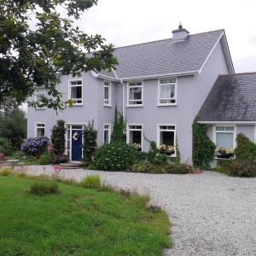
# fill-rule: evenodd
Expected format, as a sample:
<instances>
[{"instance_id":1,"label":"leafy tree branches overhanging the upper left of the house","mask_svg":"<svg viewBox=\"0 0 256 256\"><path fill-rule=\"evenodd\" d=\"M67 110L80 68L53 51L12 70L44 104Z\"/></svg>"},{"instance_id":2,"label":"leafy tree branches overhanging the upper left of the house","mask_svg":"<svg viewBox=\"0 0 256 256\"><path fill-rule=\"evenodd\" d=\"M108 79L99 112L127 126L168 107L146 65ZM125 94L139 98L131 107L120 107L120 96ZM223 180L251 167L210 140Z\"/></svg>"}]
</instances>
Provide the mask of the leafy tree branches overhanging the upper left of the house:
<instances>
[{"instance_id":1,"label":"leafy tree branches overhanging the upper left of the house","mask_svg":"<svg viewBox=\"0 0 256 256\"><path fill-rule=\"evenodd\" d=\"M35 89L48 96L32 107L64 109L55 86L61 75L111 69L117 64L113 45L102 36L90 36L73 25L97 0L0 0L0 106L6 97L24 102ZM61 16L61 11L67 17ZM36 21L32 28L31 20Z\"/></svg>"}]
</instances>

